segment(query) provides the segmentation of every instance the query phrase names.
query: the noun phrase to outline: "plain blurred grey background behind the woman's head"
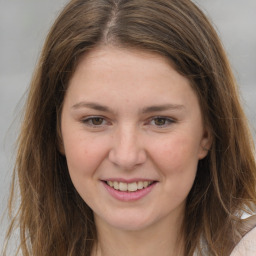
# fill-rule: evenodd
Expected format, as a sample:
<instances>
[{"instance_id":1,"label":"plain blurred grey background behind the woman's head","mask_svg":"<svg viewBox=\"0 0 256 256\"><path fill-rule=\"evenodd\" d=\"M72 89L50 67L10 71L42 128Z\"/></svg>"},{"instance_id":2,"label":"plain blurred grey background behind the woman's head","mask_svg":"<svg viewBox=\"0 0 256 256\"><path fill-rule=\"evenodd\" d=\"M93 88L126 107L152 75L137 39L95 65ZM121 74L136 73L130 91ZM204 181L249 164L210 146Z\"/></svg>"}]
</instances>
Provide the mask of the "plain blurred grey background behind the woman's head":
<instances>
[{"instance_id":1,"label":"plain blurred grey background behind the woman's head","mask_svg":"<svg viewBox=\"0 0 256 256\"><path fill-rule=\"evenodd\" d=\"M0 216L7 204L24 93L44 38L67 0L0 0ZM256 127L256 1L195 0L214 23ZM254 137L255 137L255 132ZM0 217L1 218L1 217ZM0 248L7 219L0 224Z\"/></svg>"}]
</instances>

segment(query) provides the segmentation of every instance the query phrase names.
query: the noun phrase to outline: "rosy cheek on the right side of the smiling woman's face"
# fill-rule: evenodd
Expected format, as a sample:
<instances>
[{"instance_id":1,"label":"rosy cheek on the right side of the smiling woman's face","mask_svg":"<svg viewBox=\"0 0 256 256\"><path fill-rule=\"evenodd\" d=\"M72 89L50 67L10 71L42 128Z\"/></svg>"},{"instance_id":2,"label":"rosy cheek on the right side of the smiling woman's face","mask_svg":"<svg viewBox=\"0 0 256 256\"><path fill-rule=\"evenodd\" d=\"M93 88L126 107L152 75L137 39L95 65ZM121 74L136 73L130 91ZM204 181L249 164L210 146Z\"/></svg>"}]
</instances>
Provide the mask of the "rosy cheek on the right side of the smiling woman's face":
<instances>
[{"instance_id":1,"label":"rosy cheek on the right side of the smiling woman's face","mask_svg":"<svg viewBox=\"0 0 256 256\"><path fill-rule=\"evenodd\" d=\"M174 136L158 148L155 146L154 152L153 161L164 184L162 201L176 207L185 202L195 180L195 144L187 137Z\"/></svg>"}]
</instances>

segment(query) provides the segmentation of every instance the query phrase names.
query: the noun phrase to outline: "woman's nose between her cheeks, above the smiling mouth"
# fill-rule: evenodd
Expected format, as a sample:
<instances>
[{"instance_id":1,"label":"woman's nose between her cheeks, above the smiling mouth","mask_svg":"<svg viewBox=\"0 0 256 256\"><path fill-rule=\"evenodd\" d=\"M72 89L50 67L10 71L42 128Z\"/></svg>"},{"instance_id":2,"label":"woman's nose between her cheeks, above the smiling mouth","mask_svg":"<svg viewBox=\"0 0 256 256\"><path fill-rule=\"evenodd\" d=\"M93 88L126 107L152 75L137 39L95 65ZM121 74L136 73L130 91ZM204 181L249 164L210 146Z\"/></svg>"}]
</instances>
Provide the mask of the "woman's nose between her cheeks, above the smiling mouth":
<instances>
[{"instance_id":1,"label":"woman's nose between her cheeks, above the smiling mouth","mask_svg":"<svg viewBox=\"0 0 256 256\"><path fill-rule=\"evenodd\" d=\"M109 151L109 160L121 169L132 170L142 165L146 158L139 132L133 127L117 129Z\"/></svg>"}]
</instances>

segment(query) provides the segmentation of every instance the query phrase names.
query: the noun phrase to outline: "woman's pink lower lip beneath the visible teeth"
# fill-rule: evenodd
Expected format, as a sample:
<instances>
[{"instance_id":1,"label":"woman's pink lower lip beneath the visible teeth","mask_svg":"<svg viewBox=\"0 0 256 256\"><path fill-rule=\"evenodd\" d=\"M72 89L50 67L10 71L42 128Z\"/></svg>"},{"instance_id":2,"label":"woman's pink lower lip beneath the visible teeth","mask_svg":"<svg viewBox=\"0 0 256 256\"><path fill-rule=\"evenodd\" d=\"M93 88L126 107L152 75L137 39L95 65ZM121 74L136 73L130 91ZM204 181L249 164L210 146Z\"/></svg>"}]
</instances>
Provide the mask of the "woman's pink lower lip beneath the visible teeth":
<instances>
[{"instance_id":1,"label":"woman's pink lower lip beneath the visible teeth","mask_svg":"<svg viewBox=\"0 0 256 256\"><path fill-rule=\"evenodd\" d=\"M107 189L107 191L110 193L110 195L113 196L115 199L118 199L120 201L129 202L129 201L139 200L139 199L145 197L146 195L148 195L152 191L152 189L155 187L157 182L154 182L147 188L139 189L134 192L115 190L114 188L107 185L105 182L102 182L102 183L103 183L104 187Z\"/></svg>"}]
</instances>

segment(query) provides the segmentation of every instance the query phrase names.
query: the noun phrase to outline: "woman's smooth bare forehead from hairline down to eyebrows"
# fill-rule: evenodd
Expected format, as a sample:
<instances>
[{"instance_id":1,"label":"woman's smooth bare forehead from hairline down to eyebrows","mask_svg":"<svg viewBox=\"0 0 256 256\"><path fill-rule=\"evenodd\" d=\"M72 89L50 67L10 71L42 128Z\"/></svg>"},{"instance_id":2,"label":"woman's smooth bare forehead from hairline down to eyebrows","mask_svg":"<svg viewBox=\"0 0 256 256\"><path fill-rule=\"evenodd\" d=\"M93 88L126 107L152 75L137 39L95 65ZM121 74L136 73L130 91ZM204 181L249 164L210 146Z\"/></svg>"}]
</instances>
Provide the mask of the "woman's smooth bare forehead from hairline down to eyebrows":
<instances>
[{"instance_id":1,"label":"woman's smooth bare forehead from hairline down to eyebrows","mask_svg":"<svg viewBox=\"0 0 256 256\"><path fill-rule=\"evenodd\" d=\"M80 59L69 82L73 101L108 104L184 104L195 94L187 78L158 54L113 46L96 48Z\"/></svg>"}]
</instances>

